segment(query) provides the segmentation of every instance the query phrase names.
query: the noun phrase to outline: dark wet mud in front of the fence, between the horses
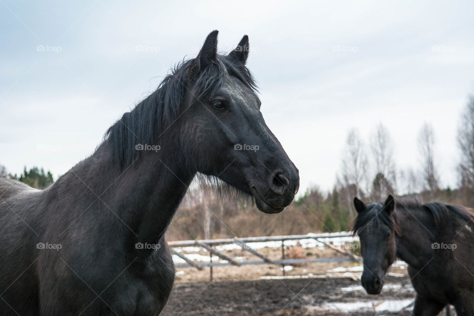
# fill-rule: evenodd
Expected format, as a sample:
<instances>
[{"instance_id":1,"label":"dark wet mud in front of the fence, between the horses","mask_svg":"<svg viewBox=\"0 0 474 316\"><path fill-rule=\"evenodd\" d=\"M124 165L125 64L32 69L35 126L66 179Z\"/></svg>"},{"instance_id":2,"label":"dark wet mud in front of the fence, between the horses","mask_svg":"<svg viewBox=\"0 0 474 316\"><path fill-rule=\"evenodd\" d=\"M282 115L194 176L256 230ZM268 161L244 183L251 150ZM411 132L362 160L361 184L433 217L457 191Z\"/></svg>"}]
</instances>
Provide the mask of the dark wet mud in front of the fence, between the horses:
<instances>
[{"instance_id":1,"label":"dark wet mud in front of the fence, between the horses","mask_svg":"<svg viewBox=\"0 0 474 316\"><path fill-rule=\"evenodd\" d=\"M406 284L408 278L389 278L391 283ZM351 311L350 313L319 309L324 303L349 303L368 300L413 299L409 290L383 291L376 298L363 291L343 292L341 288L357 286L351 278L313 278L283 280L213 281L212 283L176 284L163 315L176 316L368 316L410 315L398 313Z\"/></svg>"}]
</instances>

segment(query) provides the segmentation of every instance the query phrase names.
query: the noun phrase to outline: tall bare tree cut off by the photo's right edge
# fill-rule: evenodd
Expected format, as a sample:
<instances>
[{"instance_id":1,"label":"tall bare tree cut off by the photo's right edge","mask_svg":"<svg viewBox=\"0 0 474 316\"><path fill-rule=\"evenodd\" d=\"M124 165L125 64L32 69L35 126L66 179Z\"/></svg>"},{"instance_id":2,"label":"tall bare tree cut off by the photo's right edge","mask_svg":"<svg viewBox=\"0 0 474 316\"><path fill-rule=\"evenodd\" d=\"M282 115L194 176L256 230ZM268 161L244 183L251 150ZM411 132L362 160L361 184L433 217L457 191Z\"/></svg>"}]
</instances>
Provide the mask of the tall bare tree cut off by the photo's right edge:
<instances>
[{"instance_id":1,"label":"tall bare tree cut off by the photo's right edge","mask_svg":"<svg viewBox=\"0 0 474 316\"><path fill-rule=\"evenodd\" d=\"M461 116L458 126L458 146L461 150L459 175L463 187L474 188L474 96Z\"/></svg>"}]
</instances>

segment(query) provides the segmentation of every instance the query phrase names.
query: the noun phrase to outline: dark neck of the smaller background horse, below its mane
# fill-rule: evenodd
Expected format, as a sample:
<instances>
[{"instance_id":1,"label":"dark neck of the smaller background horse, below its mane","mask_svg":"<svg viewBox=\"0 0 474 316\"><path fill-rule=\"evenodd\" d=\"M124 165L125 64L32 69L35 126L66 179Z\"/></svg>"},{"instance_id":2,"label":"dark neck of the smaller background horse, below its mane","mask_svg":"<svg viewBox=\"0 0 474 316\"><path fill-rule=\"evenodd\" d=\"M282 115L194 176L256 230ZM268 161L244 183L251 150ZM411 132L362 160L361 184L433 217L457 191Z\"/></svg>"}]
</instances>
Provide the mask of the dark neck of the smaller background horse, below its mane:
<instances>
[{"instance_id":1,"label":"dark neck of the smaller background horse, below its mane","mask_svg":"<svg viewBox=\"0 0 474 316\"><path fill-rule=\"evenodd\" d=\"M420 270L433 258L431 247L431 232L424 222L426 218L420 216L419 210L396 212L396 222L400 235L395 235L396 256L413 268Z\"/></svg>"}]
</instances>

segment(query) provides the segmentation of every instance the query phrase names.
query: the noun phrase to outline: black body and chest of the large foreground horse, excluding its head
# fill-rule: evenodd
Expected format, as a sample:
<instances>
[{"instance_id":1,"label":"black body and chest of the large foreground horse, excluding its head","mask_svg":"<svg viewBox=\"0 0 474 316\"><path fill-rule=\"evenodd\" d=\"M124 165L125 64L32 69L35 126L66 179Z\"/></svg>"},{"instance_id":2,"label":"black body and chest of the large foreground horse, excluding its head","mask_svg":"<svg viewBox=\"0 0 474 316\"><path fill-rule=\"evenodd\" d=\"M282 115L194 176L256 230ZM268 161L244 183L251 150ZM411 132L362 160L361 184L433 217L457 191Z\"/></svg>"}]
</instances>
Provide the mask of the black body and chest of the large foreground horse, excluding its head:
<instances>
[{"instance_id":1,"label":"black body and chest of the large foreground horse, excluding its head","mask_svg":"<svg viewBox=\"0 0 474 316\"><path fill-rule=\"evenodd\" d=\"M187 187L163 165L153 172L170 182L149 177L148 157L119 174L109 159L97 161L106 147L43 191L1 180L15 189L2 197L1 315L155 315L164 307L174 265L149 226L166 229ZM93 176L99 169L116 180ZM136 250L137 242L158 246Z\"/></svg>"}]
</instances>

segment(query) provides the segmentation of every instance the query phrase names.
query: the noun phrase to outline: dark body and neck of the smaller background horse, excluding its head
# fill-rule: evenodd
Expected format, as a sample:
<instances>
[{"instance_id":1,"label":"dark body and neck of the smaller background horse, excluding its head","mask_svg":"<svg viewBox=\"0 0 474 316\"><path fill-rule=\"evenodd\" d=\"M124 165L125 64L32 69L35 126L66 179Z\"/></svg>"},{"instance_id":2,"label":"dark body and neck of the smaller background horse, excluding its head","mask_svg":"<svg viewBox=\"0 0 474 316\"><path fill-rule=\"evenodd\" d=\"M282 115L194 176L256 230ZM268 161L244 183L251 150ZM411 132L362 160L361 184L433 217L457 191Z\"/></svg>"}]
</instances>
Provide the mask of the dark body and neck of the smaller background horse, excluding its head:
<instances>
[{"instance_id":1,"label":"dark body and neck of the smaller background horse, excluding its head","mask_svg":"<svg viewBox=\"0 0 474 316\"><path fill-rule=\"evenodd\" d=\"M417 292L414 315L437 315L448 304L455 306L458 315L473 315L472 228L465 220L451 214L450 221L444 222L442 229L431 230L432 236L426 234L423 227L433 225L432 219L424 218L426 211L411 209L410 212L421 223L410 220L413 215L406 211L396 212L402 231L417 232L416 236L396 236L396 255L408 264L408 274ZM447 248L442 249L444 245Z\"/></svg>"}]
</instances>

